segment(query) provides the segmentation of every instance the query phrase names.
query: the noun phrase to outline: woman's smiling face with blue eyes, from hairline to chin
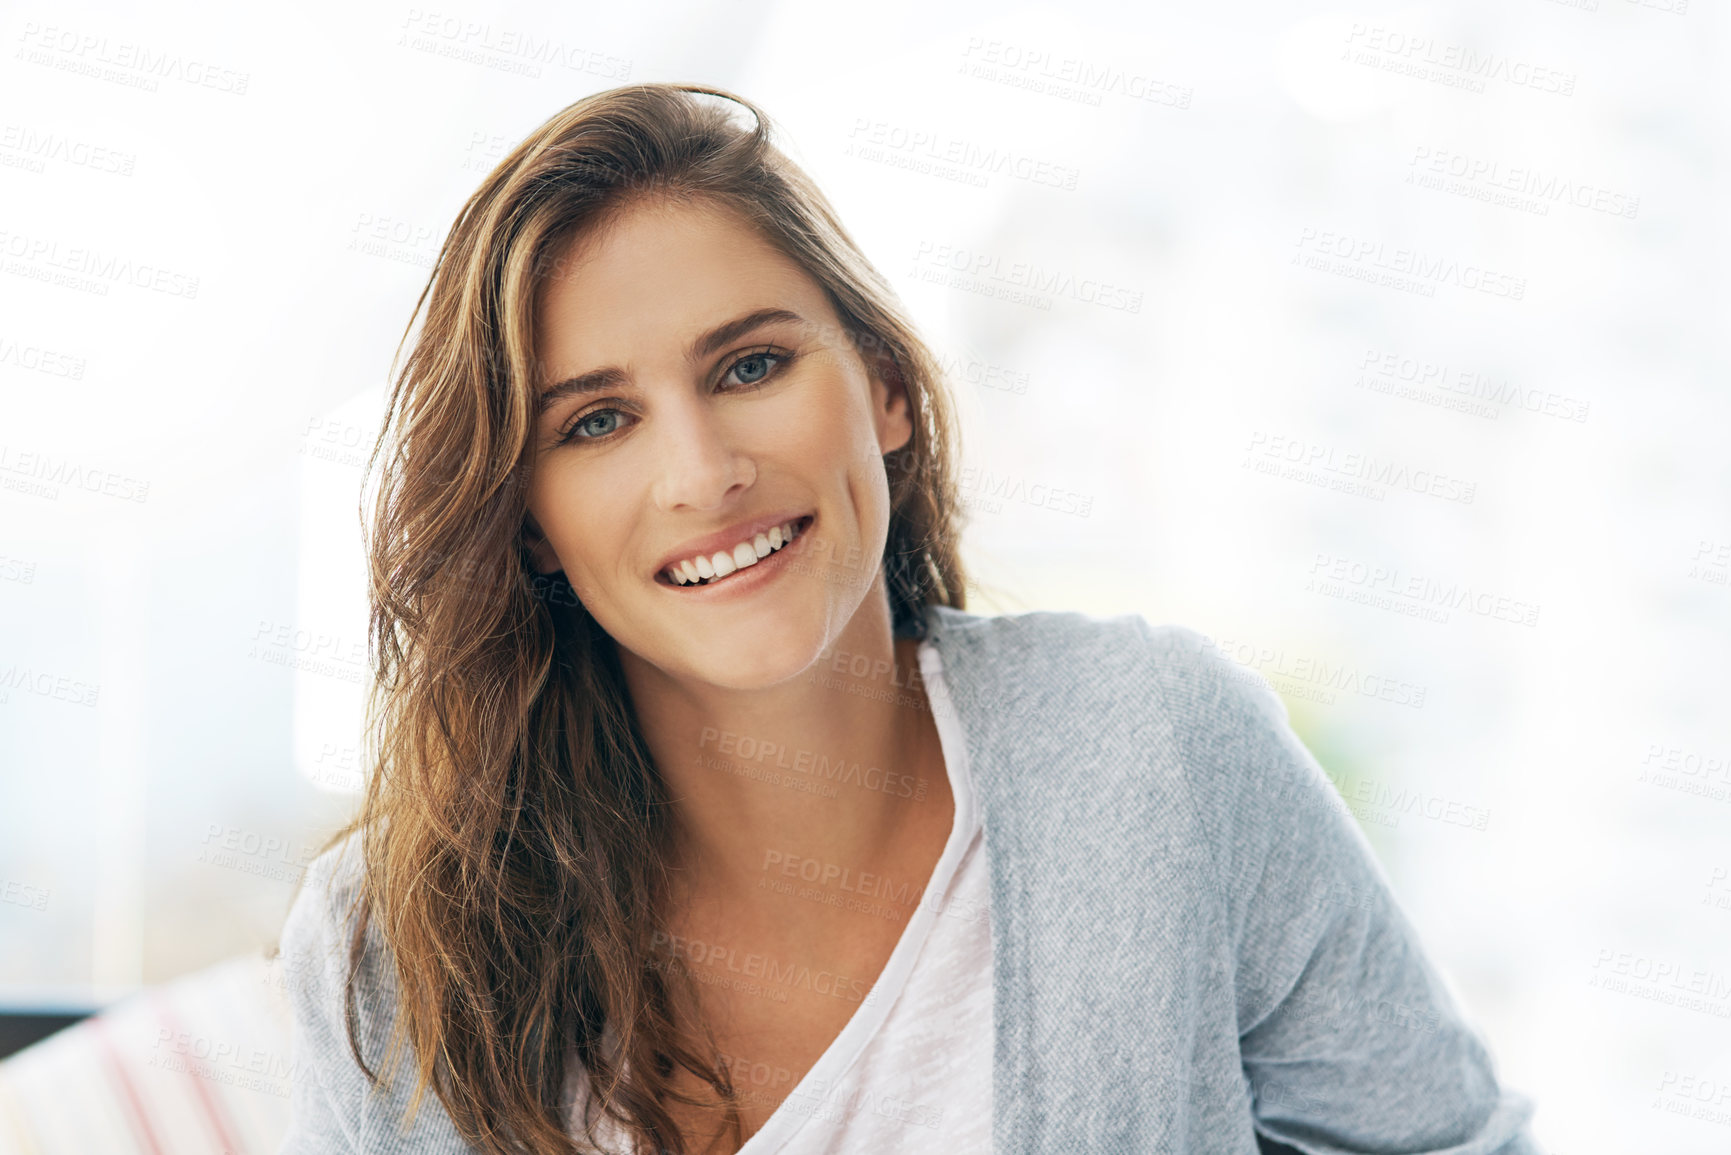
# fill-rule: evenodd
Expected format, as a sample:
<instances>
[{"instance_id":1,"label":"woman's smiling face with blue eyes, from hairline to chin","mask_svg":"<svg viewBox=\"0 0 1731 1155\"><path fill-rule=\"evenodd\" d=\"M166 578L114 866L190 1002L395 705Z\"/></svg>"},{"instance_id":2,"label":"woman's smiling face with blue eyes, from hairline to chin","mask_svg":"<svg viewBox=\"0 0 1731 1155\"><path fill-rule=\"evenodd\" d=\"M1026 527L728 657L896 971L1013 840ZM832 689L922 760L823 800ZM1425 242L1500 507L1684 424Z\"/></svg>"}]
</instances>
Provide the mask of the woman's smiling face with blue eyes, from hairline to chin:
<instances>
[{"instance_id":1,"label":"woman's smiling face with blue eyes, from hairline to chin","mask_svg":"<svg viewBox=\"0 0 1731 1155\"><path fill-rule=\"evenodd\" d=\"M578 237L542 282L535 355L537 570L563 570L623 649L760 689L807 670L869 592L883 597L883 454L912 435L907 398L743 218L646 199ZM739 565L786 523L791 549ZM737 568L680 585L675 561L705 578Z\"/></svg>"}]
</instances>

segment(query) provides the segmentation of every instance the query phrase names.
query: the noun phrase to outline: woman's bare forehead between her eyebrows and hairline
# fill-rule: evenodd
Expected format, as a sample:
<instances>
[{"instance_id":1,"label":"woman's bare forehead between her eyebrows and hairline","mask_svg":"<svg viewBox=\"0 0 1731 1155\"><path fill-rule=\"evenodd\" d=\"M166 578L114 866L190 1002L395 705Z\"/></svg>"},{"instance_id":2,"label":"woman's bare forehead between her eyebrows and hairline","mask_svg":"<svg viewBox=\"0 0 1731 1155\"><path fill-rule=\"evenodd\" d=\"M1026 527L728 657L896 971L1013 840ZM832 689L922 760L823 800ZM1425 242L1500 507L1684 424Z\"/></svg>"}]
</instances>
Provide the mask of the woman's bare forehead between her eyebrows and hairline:
<instances>
[{"instance_id":1,"label":"woman's bare forehead between her eyebrows and hairline","mask_svg":"<svg viewBox=\"0 0 1731 1155\"><path fill-rule=\"evenodd\" d=\"M694 332L760 306L833 317L810 274L734 210L642 199L557 253L537 286L535 352L552 376L677 357Z\"/></svg>"}]
</instances>

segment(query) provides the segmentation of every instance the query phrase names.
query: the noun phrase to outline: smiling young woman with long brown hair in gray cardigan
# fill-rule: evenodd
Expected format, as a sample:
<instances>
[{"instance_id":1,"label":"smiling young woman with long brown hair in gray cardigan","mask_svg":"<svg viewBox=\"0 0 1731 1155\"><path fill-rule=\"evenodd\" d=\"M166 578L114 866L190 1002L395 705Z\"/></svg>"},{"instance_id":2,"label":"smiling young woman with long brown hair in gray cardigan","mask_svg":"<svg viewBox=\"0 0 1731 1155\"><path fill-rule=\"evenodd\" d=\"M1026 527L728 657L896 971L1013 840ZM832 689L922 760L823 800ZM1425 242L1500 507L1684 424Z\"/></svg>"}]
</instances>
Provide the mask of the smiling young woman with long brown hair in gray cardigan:
<instances>
[{"instance_id":1,"label":"smiling young woman with long brown hair in gray cardigan","mask_svg":"<svg viewBox=\"0 0 1731 1155\"><path fill-rule=\"evenodd\" d=\"M966 611L942 374L751 104L564 109L422 306L286 1152L1535 1150L1265 684Z\"/></svg>"}]
</instances>

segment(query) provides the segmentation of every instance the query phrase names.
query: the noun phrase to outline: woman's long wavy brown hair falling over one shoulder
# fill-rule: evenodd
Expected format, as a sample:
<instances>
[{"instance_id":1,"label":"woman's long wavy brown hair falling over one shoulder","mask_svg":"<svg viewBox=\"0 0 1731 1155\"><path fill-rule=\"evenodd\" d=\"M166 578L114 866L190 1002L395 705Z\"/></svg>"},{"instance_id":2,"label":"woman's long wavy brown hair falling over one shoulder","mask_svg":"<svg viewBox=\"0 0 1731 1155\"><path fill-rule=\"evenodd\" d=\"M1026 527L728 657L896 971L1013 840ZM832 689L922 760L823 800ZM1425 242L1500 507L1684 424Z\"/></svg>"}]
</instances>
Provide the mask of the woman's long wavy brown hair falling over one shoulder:
<instances>
[{"instance_id":1,"label":"woman's long wavy brown hair falling over one shoulder","mask_svg":"<svg viewBox=\"0 0 1731 1155\"><path fill-rule=\"evenodd\" d=\"M393 369L367 466L369 485L379 469L370 776L325 849L360 833L350 959L358 966L377 919L400 994L386 1060L395 1068L409 1044L409 1110L431 1087L485 1152L592 1150L602 1110L637 1150L685 1155L673 1101L722 1110L734 1145L744 1139L691 975L651 945L666 930L668 797L615 642L563 575L535 571L524 537L544 384L531 317L566 246L656 194L727 206L803 267L912 410L912 438L885 455L895 632L923 637L931 603L964 608L942 367L770 132L756 106L696 85L630 85L557 113L464 204ZM353 1004L351 977L350 1048L379 1082ZM590 1086L589 1148L568 1124L573 1058ZM713 1098L677 1091L679 1070Z\"/></svg>"}]
</instances>

